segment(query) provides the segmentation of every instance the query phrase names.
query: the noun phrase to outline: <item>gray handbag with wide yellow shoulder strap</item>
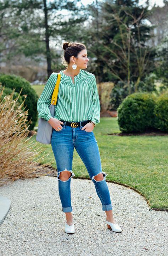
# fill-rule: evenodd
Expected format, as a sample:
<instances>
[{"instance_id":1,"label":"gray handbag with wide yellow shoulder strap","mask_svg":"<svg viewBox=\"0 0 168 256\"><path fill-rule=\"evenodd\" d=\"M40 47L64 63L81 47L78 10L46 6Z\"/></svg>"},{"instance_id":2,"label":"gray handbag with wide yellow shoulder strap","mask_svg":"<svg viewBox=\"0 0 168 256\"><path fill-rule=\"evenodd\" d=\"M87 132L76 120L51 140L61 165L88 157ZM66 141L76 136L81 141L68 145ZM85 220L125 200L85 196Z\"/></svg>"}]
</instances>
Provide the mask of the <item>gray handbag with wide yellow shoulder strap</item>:
<instances>
[{"instance_id":1,"label":"gray handbag with wide yellow shoulder strap","mask_svg":"<svg viewBox=\"0 0 168 256\"><path fill-rule=\"evenodd\" d=\"M54 117L55 116L55 105L57 102L57 96L58 96L58 89L59 89L59 84L61 80L61 74L57 73L57 82L54 88L54 92L52 94L52 99L51 99L51 105L49 106L50 113ZM43 144L51 144L51 135L52 135L52 126L49 124L48 121L46 121L44 118L40 117L39 122L38 122L38 130L37 130L37 136L36 140L40 143Z\"/></svg>"}]
</instances>

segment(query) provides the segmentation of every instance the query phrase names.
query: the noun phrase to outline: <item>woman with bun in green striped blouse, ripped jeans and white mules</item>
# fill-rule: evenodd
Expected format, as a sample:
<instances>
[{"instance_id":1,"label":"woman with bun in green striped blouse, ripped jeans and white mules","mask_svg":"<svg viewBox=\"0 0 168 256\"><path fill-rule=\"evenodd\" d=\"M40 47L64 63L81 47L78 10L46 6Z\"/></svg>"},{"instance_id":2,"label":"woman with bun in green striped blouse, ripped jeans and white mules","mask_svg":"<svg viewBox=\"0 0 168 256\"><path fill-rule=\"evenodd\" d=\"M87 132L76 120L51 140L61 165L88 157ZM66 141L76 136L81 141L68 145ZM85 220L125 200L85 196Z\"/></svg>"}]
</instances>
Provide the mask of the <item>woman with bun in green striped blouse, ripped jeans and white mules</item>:
<instances>
[{"instance_id":1,"label":"woman with bun in green striped blouse, ripped jeans and white mules","mask_svg":"<svg viewBox=\"0 0 168 256\"><path fill-rule=\"evenodd\" d=\"M52 117L49 106L54 90L57 73L52 73L38 100L38 117L43 117L53 127L51 136L52 151L57 165L58 192L62 211L66 215L65 232L74 233L71 206L71 178L74 147L84 162L89 176L95 185L102 210L106 213L106 223L114 232L121 228L114 220L110 193L102 172L101 160L93 129L100 122L100 101L97 92L95 75L83 69L87 68L88 57L82 43L63 43L63 64L61 70L55 117Z\"/></svg>"}]
</instances>

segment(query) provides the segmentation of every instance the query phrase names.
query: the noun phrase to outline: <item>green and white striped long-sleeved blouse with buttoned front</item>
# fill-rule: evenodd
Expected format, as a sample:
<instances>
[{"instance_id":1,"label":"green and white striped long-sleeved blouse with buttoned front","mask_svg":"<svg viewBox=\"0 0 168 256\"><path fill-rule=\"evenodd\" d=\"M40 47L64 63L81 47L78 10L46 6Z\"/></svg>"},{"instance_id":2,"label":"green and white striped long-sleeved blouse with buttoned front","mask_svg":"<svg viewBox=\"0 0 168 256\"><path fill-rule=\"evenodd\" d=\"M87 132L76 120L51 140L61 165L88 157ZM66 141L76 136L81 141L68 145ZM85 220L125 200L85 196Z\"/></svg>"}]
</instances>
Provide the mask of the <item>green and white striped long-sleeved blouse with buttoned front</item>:
<instances>
[{"instance_id":1,"label":"green and white striped long-sleeved blouse with buttoned front","mask_svg":"<svg viewBox=\"0 0 168 256\"><path fill-rule=\"evenodd\" d=\"M100 101L95 75L80 69L73 83L72 78L62 71L60 71L61 81L54 117L68 122L91 120L98 124L100 122ZM52 117L49 106L56 81L57 73L52 73L38 99L38 118L43 117L49 121Z\"/></svg>"}]
</instances>

